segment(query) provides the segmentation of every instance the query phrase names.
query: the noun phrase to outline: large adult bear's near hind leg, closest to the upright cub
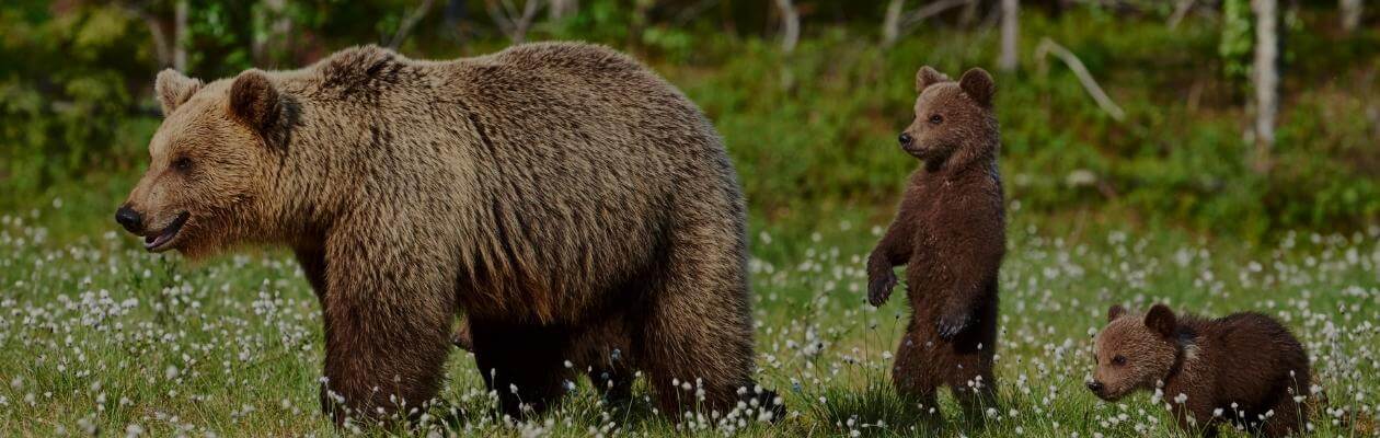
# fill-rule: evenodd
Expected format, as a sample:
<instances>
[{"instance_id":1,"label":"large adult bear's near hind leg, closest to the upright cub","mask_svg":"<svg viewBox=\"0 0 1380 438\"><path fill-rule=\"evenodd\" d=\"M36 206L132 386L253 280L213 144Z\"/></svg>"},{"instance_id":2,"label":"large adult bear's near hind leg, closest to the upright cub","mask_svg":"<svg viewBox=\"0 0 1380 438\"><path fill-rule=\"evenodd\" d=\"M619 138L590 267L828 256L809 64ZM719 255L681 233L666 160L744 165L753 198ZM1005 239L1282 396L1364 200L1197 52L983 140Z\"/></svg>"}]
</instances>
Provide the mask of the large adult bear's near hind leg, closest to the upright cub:
<instances>
[{"instance_id":1,"label":"large adult bear's near hind leg, closest to the upright cub","mask_svg":"<svg viewBox=\"0 0 1380 438\"><path fill-rule=\"evenodd\" d=\"M723 225L673 227L665 265L649 280L642 312L633 312L636 363L673 419L686 410L722 415L740 399L763 406L776 398L755 391L745 247ZM740 388L747 391L740 395Z\"/></svg>"}]
</instances>

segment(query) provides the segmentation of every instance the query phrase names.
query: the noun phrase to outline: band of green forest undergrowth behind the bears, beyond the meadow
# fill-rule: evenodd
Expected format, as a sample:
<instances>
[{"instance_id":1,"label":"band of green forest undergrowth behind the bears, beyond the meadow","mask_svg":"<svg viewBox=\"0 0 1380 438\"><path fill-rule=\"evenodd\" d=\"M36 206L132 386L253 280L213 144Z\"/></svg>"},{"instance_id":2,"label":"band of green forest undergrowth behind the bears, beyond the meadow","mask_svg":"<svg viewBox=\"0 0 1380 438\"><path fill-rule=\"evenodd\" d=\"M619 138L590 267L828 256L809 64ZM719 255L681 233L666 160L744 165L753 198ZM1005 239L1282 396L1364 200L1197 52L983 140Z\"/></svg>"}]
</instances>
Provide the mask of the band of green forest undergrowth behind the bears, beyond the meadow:
<instances>
[{"instance_id":1,"label":"band of green forest undergrowth behind the bears, beyond the meadow","mask_svg":"<svg viewBox=\"0 0 1380 438\"><path fill-rule=\"evenodd\" d=\"M190 73L203 79L253 65L299 66L344 46L389 39L417 6L379 0L344 8L339 0L312 0L270 11L261 1L189 1L182 44ZM437 1L403 51L448 58L506 44L482 1L462 6L451 17L450 6ZM1241 138L1249 4L1223 7L1221 21L1191 15L1176 29L1163 25L1170 12L1163 7L1151 8L1151 18L1101 6L1058 17L1038 8L1023 14L1023 53L1041 37L1068 47L1127 120L1103 113L1054 58L999 75L1002 169L1013 206L1052 216L1104 211L1239 236L1355 228L1380 216L1380 158L1368 148L1380 135L1370 116L1380 90L1358 87L1380 68L1380 33L1305 32L1333 17L1289 14L1285 54L1310 55L1285 72L1275 151L1285 164L1263 175L1245 164ZM925 25L883 48L875 22L860 17L806 22L799 47L784 54L771 28L724 32L758 22L760 11L738 3L693 14L683 8L581 1L559 21L541 14L529 39L589 40L646 59L715 120L751 210L766 221L845 210L865 211L865 222L885 221L918 166L894 146L912 117L914 72L929 64L958 75L991 66L996 55L996 33L987 28ZM164 17L174 3L152 1L148 10ZM835 12L860 11L882 8ZM272 40L280 18L291 35ZM451 28L453 18L461 28ZM149 95L159 65L146 23L113 6L75 3L58 11L19 1L0 7L0 26L7 29L0 40L0 189L37 193L73 178L135 177L159 123ZM255 54L255 43L265 53Z\"/></svg>"}]
</instances>

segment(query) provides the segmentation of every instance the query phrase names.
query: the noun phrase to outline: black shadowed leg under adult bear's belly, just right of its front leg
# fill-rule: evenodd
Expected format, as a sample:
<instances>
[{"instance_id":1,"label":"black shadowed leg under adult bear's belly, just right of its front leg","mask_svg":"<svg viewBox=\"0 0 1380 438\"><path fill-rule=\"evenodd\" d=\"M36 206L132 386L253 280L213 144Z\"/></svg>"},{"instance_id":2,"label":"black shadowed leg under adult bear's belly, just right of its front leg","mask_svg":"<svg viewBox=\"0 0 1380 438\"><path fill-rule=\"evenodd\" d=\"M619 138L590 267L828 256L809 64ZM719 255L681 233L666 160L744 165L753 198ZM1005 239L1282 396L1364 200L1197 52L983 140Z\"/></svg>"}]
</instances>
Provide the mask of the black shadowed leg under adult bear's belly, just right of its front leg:
<instances>
[{"instance_id":1,"label":"black shadowed leg under adult bear's belly, just right of its front leg","mask_svg":"<svg viewBox=\"0 0 1380 438\"><path fill-rule=\"evenodd\" d=\"M542 413L566 392L571 372L562 354L569 344L560 326L469 321L475 363L500 412L513 419Z\"/></svg>"}]
</instances>

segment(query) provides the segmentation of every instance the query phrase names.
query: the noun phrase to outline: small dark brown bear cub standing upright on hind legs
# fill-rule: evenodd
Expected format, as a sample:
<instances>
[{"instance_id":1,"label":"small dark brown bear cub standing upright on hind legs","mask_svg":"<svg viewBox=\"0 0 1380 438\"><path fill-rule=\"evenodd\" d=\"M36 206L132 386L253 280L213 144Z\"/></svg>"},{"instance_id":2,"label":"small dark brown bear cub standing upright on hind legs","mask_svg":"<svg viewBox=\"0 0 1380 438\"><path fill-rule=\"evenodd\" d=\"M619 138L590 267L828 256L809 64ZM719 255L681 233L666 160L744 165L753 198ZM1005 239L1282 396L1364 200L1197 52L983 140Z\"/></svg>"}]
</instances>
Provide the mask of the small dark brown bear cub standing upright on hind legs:
<instances>
[{"instance_id":1,"label":"small dark brown bear cub standing upright on hind legs","mask_svg":"<svg viewBox=\"0 0 1380 438\"><path fill-rule=\"evenodd\" d=\"M1006 253L996 86L983 69L959 82L925 66L915 76L915 122L901 149L923 160L900 211L868 257L868 300L886 303L905 264L911 322L891 380L937 408L949 387L970 417L995 402L996 279Z\"/></svg>"}]
</instances>

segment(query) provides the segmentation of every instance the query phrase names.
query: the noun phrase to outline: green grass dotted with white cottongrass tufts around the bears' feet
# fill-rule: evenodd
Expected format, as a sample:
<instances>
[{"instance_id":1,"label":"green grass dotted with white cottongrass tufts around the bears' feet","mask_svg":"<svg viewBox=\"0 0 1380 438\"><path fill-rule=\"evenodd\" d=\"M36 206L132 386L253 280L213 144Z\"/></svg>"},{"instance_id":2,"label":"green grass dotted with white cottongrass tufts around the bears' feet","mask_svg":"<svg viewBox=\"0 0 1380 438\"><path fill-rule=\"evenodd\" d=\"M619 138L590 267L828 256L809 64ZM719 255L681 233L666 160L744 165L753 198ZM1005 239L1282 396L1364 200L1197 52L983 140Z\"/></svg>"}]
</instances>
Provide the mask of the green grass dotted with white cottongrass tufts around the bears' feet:
<instances>
[{"instance_id":1,"label":"green grass dotted with white cottongrass tufts around the bears' feet","mask_svg":"<svg viewBox=\"0 0 1380 438\"><path fill-rule=\"evenodd\" d=\"M335 434L317 415L320 310L291 257L251 249L190 264L146 254L108 224L113 203L101 199L123 188L103 187L73 187L61 191L69 196L62 202L46 199L0 217L0 435ZM941 421L922 421L923 413L890 388L886 370L905 300L898 294L882 308L864 303L862 257L878 234L867 216L755 221L758 379L781 391L791 413L777 424L689 421L682 430L1183 435L1148 394L1104 403L1082 388L1093 366L1090 334L1107 307L1165 301L1210 315L1254 310L1282 319L1308 348L1326 395L1310 412L1318 435L1380 434L1373 420L1380 408L1380 228L1286 234L1261 246L1016 210L1002 271L1000 406L983 426L956 415L948 398ZM50 229L54 224L62 229ZM505 424L490 415L493 397L471 355L455 352L447 376L442 402L413 432L676 431L651 413L644 383L633 403L606 406L582 381L551 415Z\"/></svg>"}]
</instances>

